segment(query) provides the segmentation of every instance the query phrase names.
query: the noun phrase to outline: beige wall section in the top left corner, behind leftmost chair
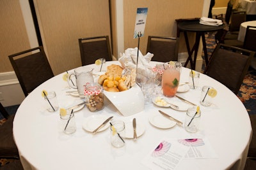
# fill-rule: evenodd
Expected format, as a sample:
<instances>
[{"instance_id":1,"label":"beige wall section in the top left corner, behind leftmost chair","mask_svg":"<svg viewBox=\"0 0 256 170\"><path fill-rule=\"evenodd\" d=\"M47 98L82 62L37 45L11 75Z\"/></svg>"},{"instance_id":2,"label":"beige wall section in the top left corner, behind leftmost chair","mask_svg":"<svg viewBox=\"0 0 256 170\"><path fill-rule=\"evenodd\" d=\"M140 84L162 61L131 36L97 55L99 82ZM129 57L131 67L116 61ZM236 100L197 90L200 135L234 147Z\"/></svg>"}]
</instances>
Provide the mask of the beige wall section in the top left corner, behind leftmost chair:
<instances>
[{"instance_id":1,"label":"beige wall section in the top left corner, behind leftmost chair","mask_svg":"<svg viewBox=\"0 0 256 170\"><path fill-rule=\"evenodd\" d=\"M30 48L19 0L0 1L0 73L13 71L8 55Z\"/></svg>"}]
</instances>

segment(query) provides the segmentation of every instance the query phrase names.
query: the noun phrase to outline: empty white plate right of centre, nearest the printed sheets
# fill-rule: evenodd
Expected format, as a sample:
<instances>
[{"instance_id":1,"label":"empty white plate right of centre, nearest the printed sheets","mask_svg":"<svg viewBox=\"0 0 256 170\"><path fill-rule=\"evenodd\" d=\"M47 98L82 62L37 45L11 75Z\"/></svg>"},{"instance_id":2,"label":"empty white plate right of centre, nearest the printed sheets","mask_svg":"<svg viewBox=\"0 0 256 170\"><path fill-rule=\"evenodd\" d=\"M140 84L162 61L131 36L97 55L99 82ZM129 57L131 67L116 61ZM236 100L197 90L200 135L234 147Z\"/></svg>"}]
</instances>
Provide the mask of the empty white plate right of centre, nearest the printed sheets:
<instances>
[{"instance_id":1,"label":"empty white plate right of centre, nearest the printed sheets","mask_svg":"<svg viewBox=\"0 0 256 170\"><path fill-rule=\"evenodd\" d=\"M150 124L161 129L170 129L176 125L176 122L164 117L163 115L153 115L149 118Z\"/></svg>"}]
</instances>

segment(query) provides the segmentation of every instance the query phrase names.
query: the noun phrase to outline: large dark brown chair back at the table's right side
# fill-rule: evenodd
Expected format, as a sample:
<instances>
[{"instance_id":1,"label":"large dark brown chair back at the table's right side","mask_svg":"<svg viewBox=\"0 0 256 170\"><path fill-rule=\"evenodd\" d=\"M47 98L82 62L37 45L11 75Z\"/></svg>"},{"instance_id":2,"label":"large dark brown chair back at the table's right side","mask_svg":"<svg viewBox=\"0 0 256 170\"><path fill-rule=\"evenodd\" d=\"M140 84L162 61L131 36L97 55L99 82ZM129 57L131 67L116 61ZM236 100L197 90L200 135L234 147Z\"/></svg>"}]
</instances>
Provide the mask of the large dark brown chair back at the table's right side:
<instances>
[{"instance_id":1,"label":"large dark brown chair back at the table's right side","mask_svg":"<svg viewBox=\"0 0 256 170\"><path fill-rule=\"evenodd\" d=\"M220 81L234 94L239 92L255 52L219 43L204 74Z\"/></svg>"}]
</instances>

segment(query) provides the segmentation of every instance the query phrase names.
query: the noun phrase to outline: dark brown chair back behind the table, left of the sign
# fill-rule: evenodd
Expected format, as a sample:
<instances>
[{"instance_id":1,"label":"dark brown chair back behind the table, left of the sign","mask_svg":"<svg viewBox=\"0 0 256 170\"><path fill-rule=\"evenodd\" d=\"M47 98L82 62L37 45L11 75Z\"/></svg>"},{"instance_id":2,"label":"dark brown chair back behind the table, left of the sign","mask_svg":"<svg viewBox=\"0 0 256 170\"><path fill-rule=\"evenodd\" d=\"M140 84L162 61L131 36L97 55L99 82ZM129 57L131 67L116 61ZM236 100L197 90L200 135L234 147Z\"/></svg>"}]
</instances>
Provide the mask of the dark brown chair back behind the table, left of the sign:
<instances>
[{"instance_id":1,"label":"dark brown chair back behind the table, left of the sign","mask_svg":"<svg viewBox=\"0 0 256 170\"><path fill-rule=\"evenodd\" d=\"M106 61L112 60L109 36L79 38L78 42L82 66L93 64L100 58L104 58Z\"/></svg>"}]
</instances>

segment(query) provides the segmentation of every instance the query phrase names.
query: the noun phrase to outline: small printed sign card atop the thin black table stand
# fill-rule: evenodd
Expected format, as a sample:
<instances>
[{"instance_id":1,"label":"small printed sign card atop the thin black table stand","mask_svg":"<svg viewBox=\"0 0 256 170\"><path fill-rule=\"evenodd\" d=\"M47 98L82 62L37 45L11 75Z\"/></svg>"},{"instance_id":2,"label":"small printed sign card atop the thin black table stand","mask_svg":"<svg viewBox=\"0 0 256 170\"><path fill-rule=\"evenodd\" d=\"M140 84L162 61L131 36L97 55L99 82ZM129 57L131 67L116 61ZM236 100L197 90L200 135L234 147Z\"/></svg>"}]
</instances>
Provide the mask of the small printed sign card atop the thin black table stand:
<instances>
[{"instance_id":1,"label":"small printed sign card atop the thin black table stand","mask_svg":"<svg viewBox=\"0 0 256 170\"><path fill-rule=\"evenodd\" d=\"M140 37L144 36L147 14L148 14L148 8L137 8L133 38L138 38L139 34L140 34Z\"/></svg>"}]
</instances>

